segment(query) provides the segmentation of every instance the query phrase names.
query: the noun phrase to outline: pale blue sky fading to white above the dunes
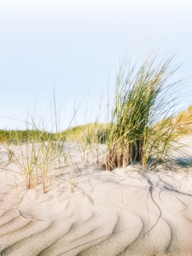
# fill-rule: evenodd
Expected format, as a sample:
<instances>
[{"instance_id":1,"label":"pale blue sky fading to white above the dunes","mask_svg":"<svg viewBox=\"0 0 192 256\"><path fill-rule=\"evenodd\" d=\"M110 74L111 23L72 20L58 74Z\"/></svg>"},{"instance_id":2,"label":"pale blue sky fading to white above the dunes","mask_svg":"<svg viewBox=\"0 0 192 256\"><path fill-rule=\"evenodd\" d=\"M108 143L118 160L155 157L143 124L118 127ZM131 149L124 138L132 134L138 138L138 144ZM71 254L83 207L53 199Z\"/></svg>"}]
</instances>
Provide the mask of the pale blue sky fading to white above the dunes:
<instances>
[{"instance_id":1,"label":"pale blue sky fading to white above the dunes","mask_svg":"<svg viewBox=\"0 0 192 256\"><path fill-rule=\"evenodd\" d=\"M191 0L0 0L0 129L25 129L34 109L44 123L60 110L61 129L78 107L71 125L90 122L129 52L179 48L191 73L191 13Z\"/></svg>"}]
</instances>

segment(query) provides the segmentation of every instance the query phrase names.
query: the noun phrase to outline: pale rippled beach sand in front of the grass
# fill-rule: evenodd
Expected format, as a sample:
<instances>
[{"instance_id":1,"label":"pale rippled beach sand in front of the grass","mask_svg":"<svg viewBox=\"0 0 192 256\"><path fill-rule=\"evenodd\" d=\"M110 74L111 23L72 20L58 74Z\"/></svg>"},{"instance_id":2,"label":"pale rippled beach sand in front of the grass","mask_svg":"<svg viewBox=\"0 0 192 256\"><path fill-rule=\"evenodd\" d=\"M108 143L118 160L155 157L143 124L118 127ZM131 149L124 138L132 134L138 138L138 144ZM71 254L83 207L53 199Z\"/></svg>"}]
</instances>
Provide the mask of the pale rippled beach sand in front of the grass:
<instances>
[{"instance_id":1,"label":"pale rippled beach sand in front of the grass","mask_svg":"<svg viewBox=\"0 0 192 256\"><path fill-rule=\"evenodd\" d=\"M90 170L73 193L60 175L38 199L15 185L14 165L1 169L1 255L192 255L192 168L183 166Z\"/></svg>"}]
</instances>

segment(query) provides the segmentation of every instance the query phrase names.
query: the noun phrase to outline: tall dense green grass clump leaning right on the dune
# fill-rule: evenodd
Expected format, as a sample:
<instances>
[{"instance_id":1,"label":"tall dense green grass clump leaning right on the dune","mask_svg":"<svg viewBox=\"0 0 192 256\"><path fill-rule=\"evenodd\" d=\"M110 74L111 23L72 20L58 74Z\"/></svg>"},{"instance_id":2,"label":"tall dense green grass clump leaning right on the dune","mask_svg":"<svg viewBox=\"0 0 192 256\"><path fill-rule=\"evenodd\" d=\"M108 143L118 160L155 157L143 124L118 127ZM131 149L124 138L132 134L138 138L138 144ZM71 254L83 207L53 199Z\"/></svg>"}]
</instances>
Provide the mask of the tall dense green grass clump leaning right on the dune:
<instances>
[{"instance_id":1,"label":"tall dense green grass clump leaning right on the dune","mask_svg":"<svg viewBox=\"0 0 192 256\"><path fill-rule=\"evenodd\" d=\"M175 118L175 107L184 80L174 81L181 65L172 65L176 54L160 59L149 55L140 67L123 61L117 75L113 108L108 122L106 166L108 170L127 166L134 160L155 166L179 150L177 129L181 117ZM169 83L170 81L170 83ZM174 118L174 122L173 122Z\"/></svg>"}]
</instances>

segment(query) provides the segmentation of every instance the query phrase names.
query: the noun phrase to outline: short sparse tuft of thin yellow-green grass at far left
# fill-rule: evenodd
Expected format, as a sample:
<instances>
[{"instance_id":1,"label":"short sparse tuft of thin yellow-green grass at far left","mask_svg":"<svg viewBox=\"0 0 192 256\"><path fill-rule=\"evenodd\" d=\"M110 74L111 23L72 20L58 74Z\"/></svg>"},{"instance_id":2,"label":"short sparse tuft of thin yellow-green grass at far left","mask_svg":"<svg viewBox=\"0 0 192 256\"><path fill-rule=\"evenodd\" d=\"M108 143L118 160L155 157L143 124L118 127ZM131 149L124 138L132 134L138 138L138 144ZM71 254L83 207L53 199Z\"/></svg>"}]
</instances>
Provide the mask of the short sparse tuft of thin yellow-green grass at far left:
<instances>
[{"instance_id":1,"label":"short sparse tuft of thin yellow-green grass at far left","mask_svg":"<svg viewBox=\"0 0 192 256\"><path fill-rule=\"evenodd\" d=\"M10 160L18 166L26 189L36 190L41 184L46 193L51 180L51 169L55 160L61 155L61 133L52 136L53 133L45 131L44 127L40 131L32 120L32 130L28 130L26 122L25 137L20 137L23 134L24 132L15 131L13 145L7 143L3 137L1 142L8 150Z\"/></svg>"}]
</instances>

